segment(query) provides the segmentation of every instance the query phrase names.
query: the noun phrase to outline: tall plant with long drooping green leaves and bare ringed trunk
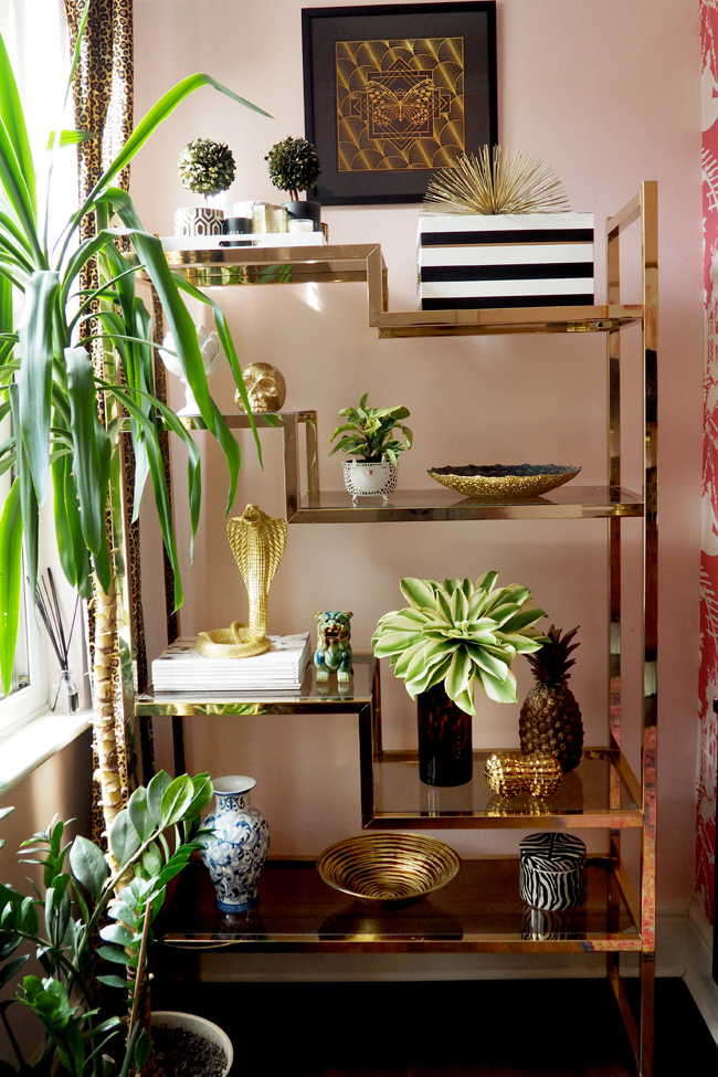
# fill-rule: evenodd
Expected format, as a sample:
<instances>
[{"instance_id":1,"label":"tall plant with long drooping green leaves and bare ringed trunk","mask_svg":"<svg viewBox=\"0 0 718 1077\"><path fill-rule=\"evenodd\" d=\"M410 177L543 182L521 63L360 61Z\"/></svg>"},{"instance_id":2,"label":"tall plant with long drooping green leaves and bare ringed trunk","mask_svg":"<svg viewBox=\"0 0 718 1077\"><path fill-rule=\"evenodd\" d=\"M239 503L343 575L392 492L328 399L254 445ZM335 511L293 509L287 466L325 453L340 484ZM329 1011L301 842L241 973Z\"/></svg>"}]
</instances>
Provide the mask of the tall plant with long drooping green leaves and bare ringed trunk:
<instances>
[{"instance_id":1,"label":"tall plant with long drooping green leaves and bare ringed trunk","mask_svg":"<svg viewBox=\"0 0 718 1077\"><path fill-rule=\"evenodd\" d=\"M73 71L91 3L88 0L80 27ZM0 517L0 674L7 693L19 625L21 548L24 540L25 567L34 593L39 513L52 492L64 573L83 598L94 594L96 746L99 769L106 779L103 802L108 826L122 803L114 763L110 677L117 600L105 519L110 484L119 475L118 433L123 418L129 416L136 460L135 516L149 476L175 571L176 605L181 604L182 590L160 453L161 430L173 431L189 451L192 536L201 496L198 448L177 415L155 395L150 317L135 291L139 270L151 279L201 416L226 457L228 510L234 499L240 450L210 397L197 331L181 289L212 307L218 334L251 415L221 308L169 271L159 240L145 231L129 196L113 186L158 125L188 94L205 85L246 108L268 115L209 75L184 78L150 109L62 234L51 241L46 223L51 188L49 183L45 204L39 205L20 96L0 36L0 420L12 416L12 433L0 444L0 474L13 468L15 476ZM52 152L87 134L56 131ZM94 234L78 242L81 224L91 214L95 220ZM131 244L131 255L120 253L118 239L123 236ZM81 273L93 258L99 271L99 286L84 292L78 283ZM13 299L18 296L23 297L23 304L15 324ZM85 336L88 326L91 332ZM91 339L102 342L99 370L84 346Z\"/></svg>"}]
</instances>

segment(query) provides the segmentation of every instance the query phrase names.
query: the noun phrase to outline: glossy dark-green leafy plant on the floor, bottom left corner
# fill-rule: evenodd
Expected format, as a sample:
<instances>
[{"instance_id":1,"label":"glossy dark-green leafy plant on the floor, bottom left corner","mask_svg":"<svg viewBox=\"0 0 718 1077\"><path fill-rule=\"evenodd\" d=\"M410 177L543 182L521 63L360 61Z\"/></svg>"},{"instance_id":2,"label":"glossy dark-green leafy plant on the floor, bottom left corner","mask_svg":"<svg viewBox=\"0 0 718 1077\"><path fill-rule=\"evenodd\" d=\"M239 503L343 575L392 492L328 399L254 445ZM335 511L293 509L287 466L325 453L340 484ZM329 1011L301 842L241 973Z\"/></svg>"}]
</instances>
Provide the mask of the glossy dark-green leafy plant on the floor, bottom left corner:
<instances>
[{"instance_id":1,"label":"glossy dark-green leafy plant on the floor, bottom left corner","mask_svg":"<svg viewBox=\"0 0 718 1077\"><path fill-rule=\"evenodd\" d=\"M152 1049L148 1033L152 922L168 884L213 836L200 820L211 798L209 774L171 780L160 771L146 789L136 789L118 813L109 831L107 857L82 836L63 845L65 824L57 819L23 843L24 863L42 865L43 877L40 886L31 884L34 893L29 895L0 884L0 983L19 976L30 954L15 953L31 943L43 975L23 976L17 999L34 1012L45 1041L39 1060L30 1067L3 1003L0 1018L20 1074L32 1068L44 1077L56 1073L57 1064L71 1077L125 1077L142 1069ZM7 813L3 810L0 817ZM106 962L97 981L118 989L124 999L119 1007L108 1005L89 974L93 951ZM125 1012L125 1020L117 1009ZM229 1043L214 1025L205 1030L205 1038ZM228 1057L225 1073L231 1062ZM7 1071L12 1073L10 1066Z\"/></svg>"}]
</instances>

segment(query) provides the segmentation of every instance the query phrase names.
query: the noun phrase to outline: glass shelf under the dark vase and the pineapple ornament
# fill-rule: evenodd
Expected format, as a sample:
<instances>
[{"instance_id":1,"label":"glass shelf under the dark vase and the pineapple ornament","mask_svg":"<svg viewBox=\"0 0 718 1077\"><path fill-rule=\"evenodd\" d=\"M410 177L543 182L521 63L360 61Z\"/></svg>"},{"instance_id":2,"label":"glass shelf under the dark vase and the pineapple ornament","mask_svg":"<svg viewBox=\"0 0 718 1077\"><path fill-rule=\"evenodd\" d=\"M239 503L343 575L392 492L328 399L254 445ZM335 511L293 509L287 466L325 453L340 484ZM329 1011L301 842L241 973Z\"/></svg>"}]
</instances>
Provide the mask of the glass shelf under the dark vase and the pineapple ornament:
<instances>
[{"instance_id":1,"label":"glass shelf under the dark vase and the pineapple ornament","mask_svg":"<svg viewBox=\"0 0 718 1077\"><path fill-rule=\"evenodd\" d=\"M516 754L516 749L507 750ZM436 788L419 778L415 752L381 751L373 763L373 813L365 826L402 830L521 827L552 830L641 826L641 786L613 749L591 748L552 796L497 796L484 777L493 751L474 752L474 778Z\"/></svg>"}]
</instances>

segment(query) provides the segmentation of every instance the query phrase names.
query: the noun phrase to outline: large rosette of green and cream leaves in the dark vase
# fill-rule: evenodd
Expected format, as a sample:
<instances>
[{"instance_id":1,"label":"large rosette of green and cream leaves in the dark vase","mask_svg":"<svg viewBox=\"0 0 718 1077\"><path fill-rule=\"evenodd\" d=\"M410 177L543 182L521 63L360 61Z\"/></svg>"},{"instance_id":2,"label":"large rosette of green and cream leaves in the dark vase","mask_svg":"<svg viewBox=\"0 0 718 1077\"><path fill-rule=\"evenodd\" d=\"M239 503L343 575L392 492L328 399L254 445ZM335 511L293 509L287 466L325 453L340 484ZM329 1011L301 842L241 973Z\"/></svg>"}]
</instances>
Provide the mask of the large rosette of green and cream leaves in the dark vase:
<instances>
[{"instance_id":1,"label":"large rosette of green and cream leaves in the dark vase","mask_svg":"<svg viewBox=\"0 0 718 1077\"><path fill-rule=\"evenodd\" d=\"M528 588L496 588L498 572L471 580L405 579L405 610L380 617L372 636L374 655L390 658L412 699L444 683L446 694L467 715L475 715L473 686L489 699L517 703L510 665L517 654L531 654L547 642L534 629L543 610L522 609Z\"/></svg>"}]
</instances>

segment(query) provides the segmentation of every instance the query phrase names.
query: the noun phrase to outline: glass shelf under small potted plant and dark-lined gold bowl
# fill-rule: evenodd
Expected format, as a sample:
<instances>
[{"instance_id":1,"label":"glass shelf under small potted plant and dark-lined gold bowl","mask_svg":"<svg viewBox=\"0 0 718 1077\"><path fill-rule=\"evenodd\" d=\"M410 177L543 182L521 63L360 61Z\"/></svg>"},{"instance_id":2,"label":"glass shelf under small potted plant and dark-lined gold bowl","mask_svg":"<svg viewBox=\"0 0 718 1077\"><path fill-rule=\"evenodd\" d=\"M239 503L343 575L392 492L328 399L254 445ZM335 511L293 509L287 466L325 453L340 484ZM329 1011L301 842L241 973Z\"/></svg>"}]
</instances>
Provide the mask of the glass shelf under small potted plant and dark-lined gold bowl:
<instances>
[{"instance_id":1,"label":"glass shelf under small potted plant and dark-lined gold bowl","mask_svg":"<svg viewBox=\"0 0 718 1077\"><path fill-rule=\"evenodd\" d=\"M591 519L643 516L640 494L616 486L574 486L572 483L542 497L490 501L464 497L444 486L398 489L384 501L380 495L359 497L347 490L305 494L289 524L384 524L426 520Z\"/></svg>"}]
</instances>

